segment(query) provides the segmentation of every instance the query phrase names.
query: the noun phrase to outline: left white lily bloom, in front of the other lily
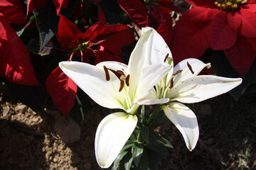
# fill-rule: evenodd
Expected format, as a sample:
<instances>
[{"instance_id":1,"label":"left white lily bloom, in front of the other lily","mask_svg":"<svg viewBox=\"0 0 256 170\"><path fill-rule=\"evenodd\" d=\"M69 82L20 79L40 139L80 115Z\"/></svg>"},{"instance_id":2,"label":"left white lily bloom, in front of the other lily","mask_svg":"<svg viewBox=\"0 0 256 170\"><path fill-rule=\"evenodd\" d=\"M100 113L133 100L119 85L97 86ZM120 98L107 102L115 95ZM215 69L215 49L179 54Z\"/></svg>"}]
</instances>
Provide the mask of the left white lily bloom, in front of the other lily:
<instances>
[{"instance_id":1,"label":"left white lily bloom, in front of the other lily","mask_svg":"<svg viewBox=\"0 0 256 170\"><path fill-rule=\"evenodd\" d=\"M171 64L151 59L166 55L162 47L153 47L154 30L148 29L139 38L129 64L100 62L96 66L82 62L60 62L63 72L100 106L120 108L123 112L107 115L95 135L95 155L102 168L109 167L137 125L139 103L171 70ZM164 46L163 46L164 47ZM168 53L171 54L169 48Z\"/></svg>"}]
</instances>

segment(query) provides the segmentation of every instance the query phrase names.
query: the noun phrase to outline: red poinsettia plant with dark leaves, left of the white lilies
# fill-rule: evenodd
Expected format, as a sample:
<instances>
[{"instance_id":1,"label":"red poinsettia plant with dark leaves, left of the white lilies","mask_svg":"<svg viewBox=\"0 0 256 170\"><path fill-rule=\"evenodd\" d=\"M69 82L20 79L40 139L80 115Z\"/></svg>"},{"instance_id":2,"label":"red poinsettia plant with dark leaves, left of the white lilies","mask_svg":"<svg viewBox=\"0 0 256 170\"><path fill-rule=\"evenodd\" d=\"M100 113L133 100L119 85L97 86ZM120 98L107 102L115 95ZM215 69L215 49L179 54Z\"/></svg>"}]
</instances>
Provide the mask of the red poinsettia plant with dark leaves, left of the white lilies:
<instances>
[{"instance_id":1,"label":"red poinsettia plant with dark leaves, left of the white lilies","mask_svg":"<svg viewBox=\"0 0 256 170\"><path fill-rule=\"evenodd\" d=\"M43 112L49 95L65 117L78 103L78 86L58 67L58 62L75 60L97 64L127 62L129 45L134 43L134 27L106 24L100 1L2 1L1 72L6 84L33 93L22 99ZM85 13L86 10L99 11ZM126 51L125 51L126 50ZM128 52L128 55L127 55ZM16 85L15 85L16 84ZM19 86L18 86L19 85ZM14 91L8 86L9 91ZM40 99L37 99L40 98ZM73 111L75 112L75 110Z\"/></svg>"}]
</instances>

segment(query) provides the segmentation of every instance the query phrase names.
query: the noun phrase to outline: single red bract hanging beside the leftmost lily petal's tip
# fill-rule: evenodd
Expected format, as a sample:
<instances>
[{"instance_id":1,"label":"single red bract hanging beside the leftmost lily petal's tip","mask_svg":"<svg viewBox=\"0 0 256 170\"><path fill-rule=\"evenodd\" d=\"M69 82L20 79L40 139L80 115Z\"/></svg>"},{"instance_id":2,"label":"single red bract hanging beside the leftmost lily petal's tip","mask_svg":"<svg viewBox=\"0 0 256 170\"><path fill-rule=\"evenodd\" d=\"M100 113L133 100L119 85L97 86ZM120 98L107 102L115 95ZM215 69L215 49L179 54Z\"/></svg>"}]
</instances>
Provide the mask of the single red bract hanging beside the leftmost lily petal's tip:
<instances>
[{"instance_id":1,"label":"single red bract hanging beside the leftmost lily petal's tip","mask_svg":"<svg viewBox=\"0 0 256 170\"><path fill-rule=\"evenodd\" d=\"M46 87L55 106L68 118L71 108L75 105L78 86L57 67L46 79Z\"/></svg>"}]
</instances>

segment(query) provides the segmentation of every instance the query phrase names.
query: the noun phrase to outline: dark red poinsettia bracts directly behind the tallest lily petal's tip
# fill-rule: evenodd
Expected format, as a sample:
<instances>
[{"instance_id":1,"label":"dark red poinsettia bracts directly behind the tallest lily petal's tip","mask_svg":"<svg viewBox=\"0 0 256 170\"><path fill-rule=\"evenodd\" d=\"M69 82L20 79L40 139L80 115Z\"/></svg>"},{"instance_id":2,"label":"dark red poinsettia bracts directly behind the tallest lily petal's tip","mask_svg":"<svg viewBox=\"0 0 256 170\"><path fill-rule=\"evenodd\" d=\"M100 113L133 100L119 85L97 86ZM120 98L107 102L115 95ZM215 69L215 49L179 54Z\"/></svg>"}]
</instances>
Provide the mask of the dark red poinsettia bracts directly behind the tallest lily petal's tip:
<instances>
[{"instance_id":1,"label":"dark red poinsettia bracts directly behind the tallest lily petal's tip","mask_svg":"<svg viewBox=\"0 0 256 170\"><path fill-rule=\"evenodd\" d=\"M169 45L172 36L170 12L179 11L173 2L160 0L157 4L142 4L140 0L118 0L118 3L139 28L146 26L155 28Z\"/></svg>"}]
</instances>

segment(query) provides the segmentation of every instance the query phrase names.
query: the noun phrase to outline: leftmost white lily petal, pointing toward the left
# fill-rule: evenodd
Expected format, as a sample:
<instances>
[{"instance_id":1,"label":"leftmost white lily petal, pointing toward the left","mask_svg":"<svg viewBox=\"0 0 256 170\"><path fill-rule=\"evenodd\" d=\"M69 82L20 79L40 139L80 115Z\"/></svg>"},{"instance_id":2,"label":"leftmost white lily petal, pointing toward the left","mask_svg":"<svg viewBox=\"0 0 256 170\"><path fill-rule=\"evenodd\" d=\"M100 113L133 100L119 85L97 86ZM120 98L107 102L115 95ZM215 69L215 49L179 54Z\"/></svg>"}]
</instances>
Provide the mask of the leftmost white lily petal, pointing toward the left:
<instances>
[{"instance_id":1,"label":"leftmost white lily petal, pointing toward the left","mask_svg":"<svg viewBox=\"0 0 256 170\"><path fill-rule=\"evenodd\" d=\"M110 73L110 81L106 80L103 67L95 67L82 62L60 62L60 69L100 106L106 108L126 109L122 105L123 92L118 92L120 81ZM107 90L106 90L107 89Z\"/></svg>"}]
</instances>

